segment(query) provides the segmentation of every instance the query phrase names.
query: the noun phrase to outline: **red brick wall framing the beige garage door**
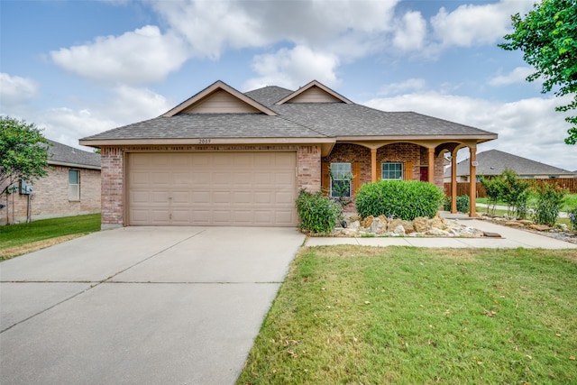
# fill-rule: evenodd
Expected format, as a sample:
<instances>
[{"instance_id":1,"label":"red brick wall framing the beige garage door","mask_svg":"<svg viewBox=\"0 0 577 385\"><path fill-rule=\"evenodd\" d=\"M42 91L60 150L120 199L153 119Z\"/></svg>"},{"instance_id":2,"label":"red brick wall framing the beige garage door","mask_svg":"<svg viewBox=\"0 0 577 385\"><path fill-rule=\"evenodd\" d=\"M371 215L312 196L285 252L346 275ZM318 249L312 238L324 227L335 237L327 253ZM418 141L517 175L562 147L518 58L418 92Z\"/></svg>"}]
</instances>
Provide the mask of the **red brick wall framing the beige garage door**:
<instances>
[{"instance_id":1,"label":"red brick wall framing the beige garage door","mask_svg":"<svg viewBox=\"0 0 577 385\"><path fill-rule=\"evenodd\" d=\"M321 188L319 146L131 146L102 147L102 225L124 224L124 154L126 151L296 151L297 188Z\"/></svg>"}]
</instances>

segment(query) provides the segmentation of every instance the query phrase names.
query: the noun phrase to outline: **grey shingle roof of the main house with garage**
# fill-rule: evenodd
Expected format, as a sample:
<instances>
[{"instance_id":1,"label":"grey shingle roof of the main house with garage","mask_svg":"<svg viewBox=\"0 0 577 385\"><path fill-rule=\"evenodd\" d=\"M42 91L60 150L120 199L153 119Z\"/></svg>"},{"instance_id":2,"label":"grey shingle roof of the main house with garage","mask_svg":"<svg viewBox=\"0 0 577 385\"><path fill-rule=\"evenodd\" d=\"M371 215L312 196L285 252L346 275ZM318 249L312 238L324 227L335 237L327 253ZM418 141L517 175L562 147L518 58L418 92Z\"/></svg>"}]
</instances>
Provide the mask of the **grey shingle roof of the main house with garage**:
<instances>
[{"instance_id":1,"label":"grey shingle roof of the main house with garage","mask_svg":"<svg viewBox=\"0 0 577 385\"><path fill-rule=\"evenodd\" d=\"M296 103L300 96L312 88L315 88L316 95L326 93L332 97L326 100L335 102ZM189 112L193 102L201 103L223 91L240 100L239 103L261 105L262 111L274 112L275 115L185 113ZM177 140L176 143L201 138L216 141L238 138L244 139L243 142L249 139L264 142L267 138L276 141L287 138L291 142L408 138L461 138L485 142L497 138L496 133L432 116L414 112L383 112L354 104L315 80L297 91L272 86L239 94L234 88L218 81L165 115L97 133L81 141L83 144L100 142L114 145L135 140L168 144L170 140Z\"/></svg>"}]
</instances>

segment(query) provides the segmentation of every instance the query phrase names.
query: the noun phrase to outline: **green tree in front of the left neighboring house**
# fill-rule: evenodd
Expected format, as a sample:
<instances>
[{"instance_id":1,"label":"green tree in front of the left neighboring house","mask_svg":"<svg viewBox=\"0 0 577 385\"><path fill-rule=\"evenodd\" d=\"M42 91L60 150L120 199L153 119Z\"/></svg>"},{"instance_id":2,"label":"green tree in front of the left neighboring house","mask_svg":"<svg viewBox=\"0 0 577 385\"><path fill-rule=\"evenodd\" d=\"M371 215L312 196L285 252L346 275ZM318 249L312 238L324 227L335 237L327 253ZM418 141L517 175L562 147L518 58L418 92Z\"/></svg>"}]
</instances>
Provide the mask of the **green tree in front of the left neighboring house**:
<instances>
[{"instance_id":1,"label":"green tree in front of the left neighboring house","mask_svg":"<svg viewBox=\"0 0 577 385\"><path fill-rule=\"evenodd\" d=\"M41 130L9 116L0 116L0 195L18 183L46 176L49 143Z\"/></svg>"}]
</instances>

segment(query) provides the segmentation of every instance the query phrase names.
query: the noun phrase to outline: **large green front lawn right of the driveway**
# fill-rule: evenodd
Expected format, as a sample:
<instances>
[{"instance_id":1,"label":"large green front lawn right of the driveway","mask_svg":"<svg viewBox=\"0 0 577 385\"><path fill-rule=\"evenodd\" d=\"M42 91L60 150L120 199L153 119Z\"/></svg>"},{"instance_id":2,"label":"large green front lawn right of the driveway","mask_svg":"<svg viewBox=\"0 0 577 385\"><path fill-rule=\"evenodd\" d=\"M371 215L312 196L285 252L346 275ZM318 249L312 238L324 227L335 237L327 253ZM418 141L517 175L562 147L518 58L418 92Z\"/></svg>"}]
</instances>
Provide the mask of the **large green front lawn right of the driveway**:
<instances>
[{"instance_id":1,"label":"large green front lawn right of the driveway","mask_svg":"<svg viewBox=\"0 0 577 385\"><path fill-rule=\"evenodd\" d=\"M577 251L303 248L239 384L577 382Z\"/></svg>"}]
</instances>

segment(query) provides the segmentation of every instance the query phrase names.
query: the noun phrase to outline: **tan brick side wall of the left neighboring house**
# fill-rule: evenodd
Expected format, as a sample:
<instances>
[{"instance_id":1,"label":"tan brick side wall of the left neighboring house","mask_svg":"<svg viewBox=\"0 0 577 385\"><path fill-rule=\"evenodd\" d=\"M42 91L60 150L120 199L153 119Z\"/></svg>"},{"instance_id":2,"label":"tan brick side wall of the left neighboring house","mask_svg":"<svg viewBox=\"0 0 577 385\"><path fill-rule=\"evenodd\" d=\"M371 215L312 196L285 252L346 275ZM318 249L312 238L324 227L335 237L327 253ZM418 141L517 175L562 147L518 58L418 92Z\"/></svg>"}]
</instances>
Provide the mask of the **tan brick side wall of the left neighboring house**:
<instances>
[{"instance_id":1,"label":"tan brick side wall of the left neighboring house","mask_svg":"<svg viewBox=\"0 0 577 385\"><path fill-rule=\"evenodd\" d=\"M69 170L79 171L78 201L69 200ZM32 180L32 188L34 190L30 199L32 220L100 212L100 170L50 166L47 177ZM2 196L0 203L6 204L5 195ZM11 194L8 196L8 206L10 213L7 213L6 207L0 209L0 225L6 224L7 215L10 223L26 221L29 196L19 192Z\"/></svg>"}]
</instances>

